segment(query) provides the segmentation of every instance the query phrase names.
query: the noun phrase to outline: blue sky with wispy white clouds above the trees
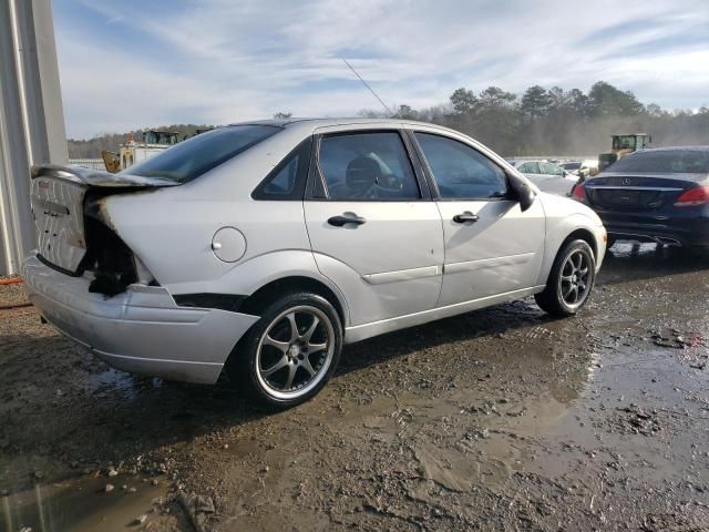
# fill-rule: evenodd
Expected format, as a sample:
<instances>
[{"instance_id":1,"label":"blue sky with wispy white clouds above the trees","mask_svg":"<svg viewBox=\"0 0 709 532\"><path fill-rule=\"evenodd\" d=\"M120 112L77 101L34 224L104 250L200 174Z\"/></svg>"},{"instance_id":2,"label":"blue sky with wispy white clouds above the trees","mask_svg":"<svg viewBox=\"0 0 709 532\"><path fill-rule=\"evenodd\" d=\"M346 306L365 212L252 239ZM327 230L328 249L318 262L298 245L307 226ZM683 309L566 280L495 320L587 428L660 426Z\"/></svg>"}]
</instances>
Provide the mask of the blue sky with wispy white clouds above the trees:
<instances>
[{"instance_id":1,"label":"blue sky with wispy white clouds above the trees","mask_svg":"<svg viewBox=\"0 0 709 532\"><path fill-rule=\"evenodd\" d=\"M69 137L428 108L465 86L709 105L709 1L53 0Z\"/></svg>"}]
</instances>

